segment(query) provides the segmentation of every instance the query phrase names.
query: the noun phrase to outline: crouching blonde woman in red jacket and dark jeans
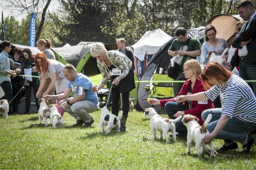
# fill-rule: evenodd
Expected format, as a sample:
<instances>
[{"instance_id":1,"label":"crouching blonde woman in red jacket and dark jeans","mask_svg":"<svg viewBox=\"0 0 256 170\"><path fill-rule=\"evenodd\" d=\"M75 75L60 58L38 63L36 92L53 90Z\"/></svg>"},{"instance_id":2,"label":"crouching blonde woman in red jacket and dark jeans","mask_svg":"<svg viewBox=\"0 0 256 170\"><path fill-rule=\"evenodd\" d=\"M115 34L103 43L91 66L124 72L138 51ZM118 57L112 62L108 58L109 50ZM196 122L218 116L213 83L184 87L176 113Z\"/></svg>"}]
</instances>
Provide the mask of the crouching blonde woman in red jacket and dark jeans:
<instances>
[{"instance_id":1,"label":"crouching blonde woman in red jacket and dark jeans","mask_svg":"<svg viewBox=\"0 0 256 170\"><path fill-rule=\"evenodd\" d=\"M204 92L204 89L200 74L201 74L201 66L197 60L191 59L187 60L184 63L184 75L186 82L183 84L182 89L180 90L178 96L187 95L187 94L195 94L198 92ZM184 103L178 104L172 99L166 100L158 100L158 99L150 99L148 102L150 105L161 105L164 106L166 113L171 119L175 119L180 115L195 115L199 121L198 123L202 125L204 121L202 120L201 113L206 109L214 108L211 100L203 100L203 101L186 101ZM178 133L187 133L186 126L183 125L182 121L178 121L175 124L176 132Z\"/></svg>"}]
</instances>

